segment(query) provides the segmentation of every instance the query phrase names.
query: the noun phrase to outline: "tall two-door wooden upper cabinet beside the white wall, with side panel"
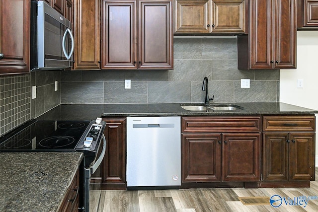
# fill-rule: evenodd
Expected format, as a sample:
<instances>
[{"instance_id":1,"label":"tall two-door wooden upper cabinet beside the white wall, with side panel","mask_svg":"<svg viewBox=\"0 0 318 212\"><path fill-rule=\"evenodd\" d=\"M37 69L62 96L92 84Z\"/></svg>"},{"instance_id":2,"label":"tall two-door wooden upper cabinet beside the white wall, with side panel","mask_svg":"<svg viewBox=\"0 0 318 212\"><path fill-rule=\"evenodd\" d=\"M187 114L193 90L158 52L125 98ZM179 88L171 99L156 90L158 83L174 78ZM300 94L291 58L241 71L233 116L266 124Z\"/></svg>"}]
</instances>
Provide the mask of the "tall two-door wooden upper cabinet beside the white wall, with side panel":
<instances>
[{"instance_id":1,"label":"tall two-door wooden upper cabinet beside the white wall, with side panel","mask_svg":"<svg viewBox=\"0 0 318 212\"><path fill-rule=\"evenodd\" d=\"M238 68L296 68L296 0L250 0L249 35L238 36Z\"/></svg>"}]
</instances>

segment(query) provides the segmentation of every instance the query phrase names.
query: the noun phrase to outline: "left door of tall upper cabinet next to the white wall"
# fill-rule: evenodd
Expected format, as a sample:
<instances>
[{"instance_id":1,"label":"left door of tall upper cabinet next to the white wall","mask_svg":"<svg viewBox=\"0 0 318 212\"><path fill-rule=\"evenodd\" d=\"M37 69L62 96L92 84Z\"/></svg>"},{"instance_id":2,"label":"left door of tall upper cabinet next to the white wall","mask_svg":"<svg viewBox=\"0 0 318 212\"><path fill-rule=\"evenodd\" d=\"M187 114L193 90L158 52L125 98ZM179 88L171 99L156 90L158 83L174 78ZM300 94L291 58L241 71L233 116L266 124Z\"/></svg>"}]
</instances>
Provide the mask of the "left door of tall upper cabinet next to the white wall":
<instances>
[{"instance_id":1,"label":"left door of tall upper cabinet next to the white wall","mask_svg":"<svg viewBox=\"0 0 318 212\"><path fill-rule=\"evenodd\" d=\"M272 0L250 0L249 69L272 69Z\"/></svg>"}]
</instances>

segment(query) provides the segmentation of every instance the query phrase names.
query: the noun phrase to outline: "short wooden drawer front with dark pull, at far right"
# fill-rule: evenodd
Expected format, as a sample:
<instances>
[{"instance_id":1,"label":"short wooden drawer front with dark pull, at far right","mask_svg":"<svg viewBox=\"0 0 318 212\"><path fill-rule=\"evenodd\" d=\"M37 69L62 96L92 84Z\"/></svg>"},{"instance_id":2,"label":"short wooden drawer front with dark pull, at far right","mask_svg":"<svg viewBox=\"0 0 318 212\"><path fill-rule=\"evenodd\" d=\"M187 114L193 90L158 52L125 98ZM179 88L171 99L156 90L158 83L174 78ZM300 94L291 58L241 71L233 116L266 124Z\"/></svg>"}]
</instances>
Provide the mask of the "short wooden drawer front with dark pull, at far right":
<instances>
[{"instance_id":1,"label":"short wooden drawer front with dark pull, at far right","mask_svg":"<svg viewBox=\"0 0 318 212\"><path fill-rule=\"evenodd\" d=\"M315 116L263 116L263 131L315 132Z\"/></svg>"}]
</instances>

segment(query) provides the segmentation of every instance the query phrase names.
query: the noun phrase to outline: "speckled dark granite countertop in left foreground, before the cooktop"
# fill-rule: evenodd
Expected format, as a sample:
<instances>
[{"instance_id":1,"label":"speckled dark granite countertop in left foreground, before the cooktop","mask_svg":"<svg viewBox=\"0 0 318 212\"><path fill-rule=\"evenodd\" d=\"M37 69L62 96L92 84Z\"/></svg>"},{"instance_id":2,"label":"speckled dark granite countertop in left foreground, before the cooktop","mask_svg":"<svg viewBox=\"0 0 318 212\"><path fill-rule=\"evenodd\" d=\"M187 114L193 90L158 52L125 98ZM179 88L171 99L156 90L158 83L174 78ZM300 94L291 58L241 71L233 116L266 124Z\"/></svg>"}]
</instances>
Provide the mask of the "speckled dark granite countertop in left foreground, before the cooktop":
<instances>
[{"instance_id":1,"label":"speckled dark granite countertop in left foreground, before the cooktop","mask_svg":"<svg viewBox=\"0 0 318 212\"><path fill-rule=\"evenodd\" d=\"M0 211L55 212L81 160L80 152L1 152Z\"/></svg>"}]
</instances>

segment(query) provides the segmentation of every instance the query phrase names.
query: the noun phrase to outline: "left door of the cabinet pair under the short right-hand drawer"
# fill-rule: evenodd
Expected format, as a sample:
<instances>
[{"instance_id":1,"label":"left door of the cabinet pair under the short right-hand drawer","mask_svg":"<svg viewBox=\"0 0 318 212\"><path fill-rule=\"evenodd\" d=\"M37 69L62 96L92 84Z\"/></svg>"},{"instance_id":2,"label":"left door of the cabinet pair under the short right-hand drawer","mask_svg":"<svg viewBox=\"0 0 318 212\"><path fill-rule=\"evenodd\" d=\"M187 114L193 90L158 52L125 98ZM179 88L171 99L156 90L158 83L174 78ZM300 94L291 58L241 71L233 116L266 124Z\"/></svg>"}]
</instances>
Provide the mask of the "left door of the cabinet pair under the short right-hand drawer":
<instances>
[{"instance_id":1,"label":"left door of the cabinet pair under the short right-hand drawer","mask_svg":"<svg viewBox=\"0 0 318 212\"><path fill-rule=\"evenodd\" d=\"M288 180L288 133L263 134L263 180Z\"/></svg>"}]
</instances>

